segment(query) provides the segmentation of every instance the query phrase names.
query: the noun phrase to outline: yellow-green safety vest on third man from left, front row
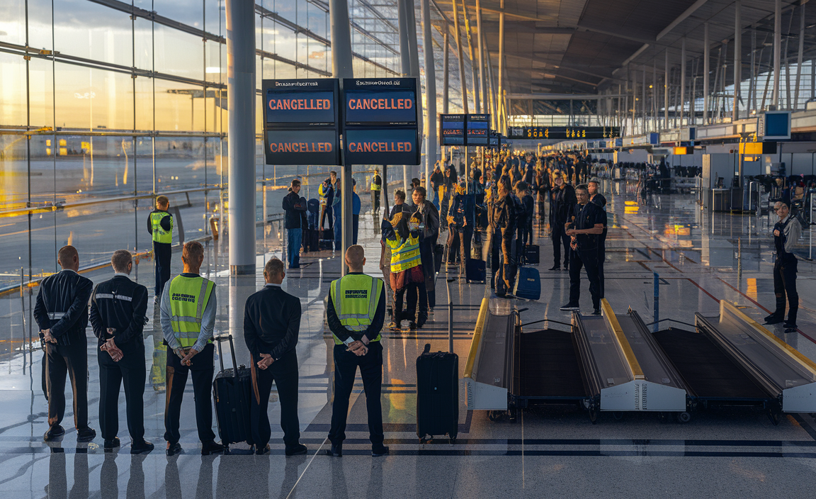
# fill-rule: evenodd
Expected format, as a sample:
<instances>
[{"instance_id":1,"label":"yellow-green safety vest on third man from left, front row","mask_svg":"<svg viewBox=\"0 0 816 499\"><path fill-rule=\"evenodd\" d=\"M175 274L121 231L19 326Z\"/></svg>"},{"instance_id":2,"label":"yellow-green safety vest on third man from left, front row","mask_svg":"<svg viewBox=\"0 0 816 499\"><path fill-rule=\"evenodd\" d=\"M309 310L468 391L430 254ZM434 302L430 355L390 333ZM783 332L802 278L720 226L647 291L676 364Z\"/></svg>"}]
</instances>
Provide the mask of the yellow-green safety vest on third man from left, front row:
<instances>
[{"instance_id":1,"label":"yellow-green safety vest on third man from left, front row","mask_svg":"<svg viewBox=\"0 0 816 499\"><path fill-rule=\"evenodd\" d=\"M215 283L200 275L177 275L171 280L170 323L182 348L190 348L198 340L198 334L202 330L202 315L213 288Z\"/></svg>"}]
</instances>

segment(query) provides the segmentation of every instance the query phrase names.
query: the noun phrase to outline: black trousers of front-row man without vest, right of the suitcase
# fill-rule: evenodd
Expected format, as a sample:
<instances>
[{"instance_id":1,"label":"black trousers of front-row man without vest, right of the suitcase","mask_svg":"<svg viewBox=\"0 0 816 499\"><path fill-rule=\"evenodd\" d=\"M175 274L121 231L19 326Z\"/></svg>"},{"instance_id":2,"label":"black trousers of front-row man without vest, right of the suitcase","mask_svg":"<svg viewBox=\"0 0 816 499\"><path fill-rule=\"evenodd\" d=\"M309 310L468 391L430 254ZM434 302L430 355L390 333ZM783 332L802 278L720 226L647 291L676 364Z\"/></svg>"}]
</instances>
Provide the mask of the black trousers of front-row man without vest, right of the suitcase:
<instances>
[{"instance_id":1,"label":"black trousers of front-row man without vest, right of the suitcase","mask_svg":"<svg viewBox=\"0 0 816 499\"><path fill-rule=\"evenodd\" d=\"M269 394L274 381L277 398L281 401L281 428L286 447L297 445L300 440L298 420L298 355L293 350L277 359L266 369L259 369L260 356L254 356L260 403L251 394L252 442L255 448L265 448L272 428L269 426Z\"/></svg>"}]
</instances>

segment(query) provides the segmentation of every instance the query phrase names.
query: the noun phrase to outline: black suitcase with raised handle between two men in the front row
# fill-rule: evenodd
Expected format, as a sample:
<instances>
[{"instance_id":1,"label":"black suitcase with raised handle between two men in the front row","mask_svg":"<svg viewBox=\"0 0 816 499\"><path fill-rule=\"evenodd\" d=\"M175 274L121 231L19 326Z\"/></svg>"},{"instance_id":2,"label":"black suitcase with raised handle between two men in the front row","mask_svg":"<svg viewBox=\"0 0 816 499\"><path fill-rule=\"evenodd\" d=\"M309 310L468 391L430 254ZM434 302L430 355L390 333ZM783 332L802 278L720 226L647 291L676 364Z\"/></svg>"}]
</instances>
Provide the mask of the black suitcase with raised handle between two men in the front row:
<instances>
[{"instance_id":1,"label":"black suitcase with raised handle between two men in the front row","mask_svg":"<svg viewBox=\"0 0 816 499\"><path fill-rule=\"evenodd\" d=\"M233 335L219 336L215 338L215 341L218 341L221 371L215 375L215 380L212 382L212 393L215 400L215 419L218 422L218 434L221 437L221 443L224 446L237 442L252 444L250 397L253 396L253 390L251 370L243 364L237 365ZM229 349L233 354L233 368L231 369L224 369L221 341L229 341Z\"/></svg>"}]
</instances>

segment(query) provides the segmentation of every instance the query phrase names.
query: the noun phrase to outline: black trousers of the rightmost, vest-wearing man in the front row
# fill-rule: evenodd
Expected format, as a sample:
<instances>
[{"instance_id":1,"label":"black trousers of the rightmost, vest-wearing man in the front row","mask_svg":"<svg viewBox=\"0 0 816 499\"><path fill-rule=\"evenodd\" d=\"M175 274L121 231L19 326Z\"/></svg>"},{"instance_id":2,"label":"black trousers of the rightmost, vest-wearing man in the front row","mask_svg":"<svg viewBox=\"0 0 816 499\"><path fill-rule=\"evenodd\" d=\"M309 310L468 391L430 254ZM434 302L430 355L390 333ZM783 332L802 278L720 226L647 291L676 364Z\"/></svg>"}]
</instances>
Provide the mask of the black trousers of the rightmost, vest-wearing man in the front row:
<instances>
[{"instance_id":1,"label":"black trousers of the rightmost, vest-wearing man in the front row","mask_svg":"<svg viewBox=\"0 0 816 499\"><path fill-rule=\"evenodd\" d=\"M346 351L346 345L335 345L335 399L331 403L331 443L343 443L346 439L348 397L354 387L354 376L360 368L363 390L366 391L369 439L373 445L382 445L383 407L379 400L383 389L383 345L379 341L368 344L368 353L357 357Z\"/></svg>"}]
</instances>

